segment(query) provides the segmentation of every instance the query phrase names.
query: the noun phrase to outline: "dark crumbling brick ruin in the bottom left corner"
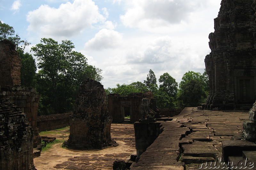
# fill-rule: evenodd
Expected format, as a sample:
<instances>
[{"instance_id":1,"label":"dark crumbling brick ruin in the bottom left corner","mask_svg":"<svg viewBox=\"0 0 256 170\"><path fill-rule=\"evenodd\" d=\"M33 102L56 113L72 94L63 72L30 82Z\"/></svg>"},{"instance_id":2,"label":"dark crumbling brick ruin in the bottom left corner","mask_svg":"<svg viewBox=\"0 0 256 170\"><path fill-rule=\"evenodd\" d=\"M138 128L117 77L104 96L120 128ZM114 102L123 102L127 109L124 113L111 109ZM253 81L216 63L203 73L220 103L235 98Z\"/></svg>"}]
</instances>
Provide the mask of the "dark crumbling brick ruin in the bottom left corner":
<instances>
[{"instance_id":1,"label":"dark crumbling brick ruin in the bottom left corner","mask_svg":"<svg viewBox=\"0 0 256 170\"><path fill-rule=\"evenodd\" d=\"M0 170L36 170L33 131L18 106L0 99Z\"/></svg>"}]
</instances>

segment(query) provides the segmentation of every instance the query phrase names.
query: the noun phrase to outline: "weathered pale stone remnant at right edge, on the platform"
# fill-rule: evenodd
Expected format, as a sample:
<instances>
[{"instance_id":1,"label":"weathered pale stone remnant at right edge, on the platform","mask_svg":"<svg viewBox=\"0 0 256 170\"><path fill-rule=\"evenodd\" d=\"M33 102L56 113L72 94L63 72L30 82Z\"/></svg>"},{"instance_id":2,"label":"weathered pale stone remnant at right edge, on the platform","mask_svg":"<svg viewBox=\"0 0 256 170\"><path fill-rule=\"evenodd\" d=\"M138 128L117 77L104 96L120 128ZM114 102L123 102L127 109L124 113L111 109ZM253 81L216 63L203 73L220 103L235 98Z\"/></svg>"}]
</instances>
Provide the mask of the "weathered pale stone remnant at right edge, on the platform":
<instances>
[{"instance_id":1,"label":"weathered pale stone remnant at right edge, on the platform","mask_svg":"<svg viewBox=\"0 0 256 170\"><path fill-rule=\"evenodd\" d=\"M242 135L246 140L256 142L256 102L249 111L249 119L243 122Z\"/></svg>"}]
</instances>

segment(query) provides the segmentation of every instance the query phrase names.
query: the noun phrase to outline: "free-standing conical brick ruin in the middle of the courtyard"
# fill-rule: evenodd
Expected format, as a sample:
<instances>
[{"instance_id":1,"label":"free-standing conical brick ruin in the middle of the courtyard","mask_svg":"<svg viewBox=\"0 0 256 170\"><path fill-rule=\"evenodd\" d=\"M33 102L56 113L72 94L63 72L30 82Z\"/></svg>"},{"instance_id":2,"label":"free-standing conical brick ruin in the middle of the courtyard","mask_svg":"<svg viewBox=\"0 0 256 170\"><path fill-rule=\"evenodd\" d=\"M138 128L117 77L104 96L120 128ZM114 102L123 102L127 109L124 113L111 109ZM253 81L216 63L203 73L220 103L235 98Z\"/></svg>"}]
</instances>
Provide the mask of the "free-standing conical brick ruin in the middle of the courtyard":
<instances>
[{"instance_id":1,"label":"free-standing conical brick ruin in the middle of the courtyard","mask_svg":"<svg viewBox=\"0 0 256 170\"><path fill-rule=\"evenodd\" d=\"M100 82L87 79L80 86L74 113L70 116L70 135L64 146L73 149L102 149L112 146L112 117L106 93Z\"/></svg>"}]
</instances>

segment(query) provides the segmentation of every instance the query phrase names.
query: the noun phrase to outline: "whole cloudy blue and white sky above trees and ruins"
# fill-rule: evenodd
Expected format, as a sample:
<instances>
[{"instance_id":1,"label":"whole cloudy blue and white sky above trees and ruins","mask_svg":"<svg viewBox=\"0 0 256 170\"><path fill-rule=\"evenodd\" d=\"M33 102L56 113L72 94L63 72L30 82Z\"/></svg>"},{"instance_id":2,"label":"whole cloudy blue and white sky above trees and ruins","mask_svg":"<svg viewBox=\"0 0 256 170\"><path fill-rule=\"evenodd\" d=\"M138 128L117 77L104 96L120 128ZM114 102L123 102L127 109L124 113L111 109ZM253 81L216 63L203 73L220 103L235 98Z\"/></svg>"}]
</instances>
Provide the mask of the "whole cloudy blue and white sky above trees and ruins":
<instances>
[{"instance_id":1,"label":"whole cloudy blue and white sky above trees and ruins","mask_svg":"<svg viewBox=\"0 0 256 170\"><path fill-rule=\"evenodd\" d=\"M103 70L104 88L204 72L221 0L0 0L0 20L35 46L71 40ZM30 47L31 47L30 46ZM30 47L25 51L29 52Z\"/></svg>"}]
</instances>

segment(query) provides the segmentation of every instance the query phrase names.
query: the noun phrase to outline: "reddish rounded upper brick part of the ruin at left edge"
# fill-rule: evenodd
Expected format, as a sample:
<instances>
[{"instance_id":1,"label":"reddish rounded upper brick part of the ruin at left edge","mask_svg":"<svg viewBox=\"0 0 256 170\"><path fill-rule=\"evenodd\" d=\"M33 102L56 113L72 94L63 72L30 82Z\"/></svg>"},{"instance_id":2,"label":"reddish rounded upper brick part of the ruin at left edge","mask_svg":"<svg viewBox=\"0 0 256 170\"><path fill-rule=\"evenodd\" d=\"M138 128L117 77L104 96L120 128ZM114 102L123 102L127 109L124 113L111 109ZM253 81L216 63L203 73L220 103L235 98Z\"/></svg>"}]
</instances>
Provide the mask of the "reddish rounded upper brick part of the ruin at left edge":
<instances>
[{"instance_id":1,"label":"reddish rounded upper brick part of the ruin at left edge","mask_svg":"<svg viewBox=\"0 0 256 170\"><path fill-rule=\"evenodd\" d=\"M9 40L0 41L0 63L0 87L20 86L20 58Z\"/></svg>"}]
</instances>

